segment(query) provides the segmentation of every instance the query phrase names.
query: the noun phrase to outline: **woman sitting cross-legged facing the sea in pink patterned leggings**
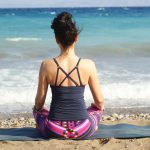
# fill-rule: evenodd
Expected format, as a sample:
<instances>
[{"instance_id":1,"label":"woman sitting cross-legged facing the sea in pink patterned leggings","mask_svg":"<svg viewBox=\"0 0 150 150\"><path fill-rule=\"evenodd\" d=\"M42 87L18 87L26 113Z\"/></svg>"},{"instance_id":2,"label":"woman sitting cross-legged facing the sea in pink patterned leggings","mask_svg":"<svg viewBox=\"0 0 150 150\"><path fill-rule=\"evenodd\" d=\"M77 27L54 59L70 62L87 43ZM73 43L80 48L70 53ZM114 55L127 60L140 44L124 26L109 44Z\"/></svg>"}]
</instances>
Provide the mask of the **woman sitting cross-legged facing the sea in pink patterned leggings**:
<instances>
[{"instance_id":1,"label":"woman sitting cross-legged facing the sea in pink patterned leggings","mask_svg":"<svg viewBox=\"0 0 150 150\"><path fill-rule=\"evenodd\" d=\"M79 31L72 15L62 12L54 18L60 55L44 60L33 115L45 137L85 138L95 133L104 111L96 67L93 61L79 58L74 51ZM50 110L44 107L48 85L52 91ZM86 109L84 88L89 85L95 104Z\"/></svg>"}]
</instances>

